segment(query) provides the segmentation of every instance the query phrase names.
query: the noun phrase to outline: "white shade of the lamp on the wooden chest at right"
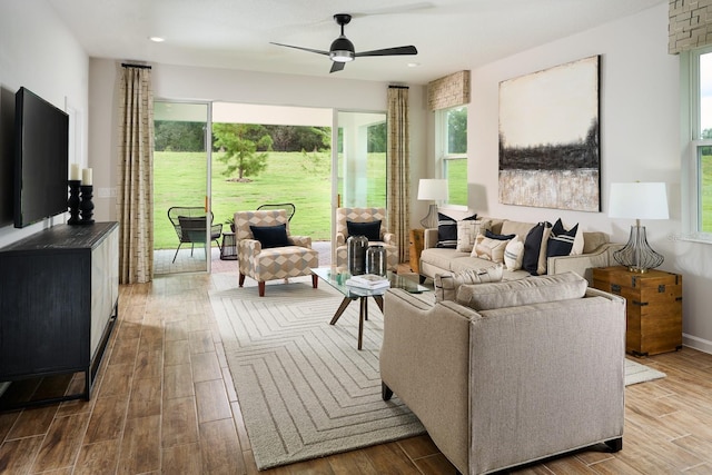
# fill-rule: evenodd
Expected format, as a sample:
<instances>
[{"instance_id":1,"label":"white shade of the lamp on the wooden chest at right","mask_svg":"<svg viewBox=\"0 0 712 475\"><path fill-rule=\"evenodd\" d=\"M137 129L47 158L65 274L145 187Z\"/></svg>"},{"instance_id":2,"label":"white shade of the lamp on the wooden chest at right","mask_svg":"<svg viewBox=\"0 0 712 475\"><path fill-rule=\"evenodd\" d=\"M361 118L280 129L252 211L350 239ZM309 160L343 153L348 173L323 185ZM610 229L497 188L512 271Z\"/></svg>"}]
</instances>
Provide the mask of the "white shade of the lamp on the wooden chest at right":
<instances>
[{"instance_id":1,"label":"white shade of the lamp on the wooden chest at right","mask_svg":"<svg viewBox=\"0 0 712 475\"><path fill-rule=\"evenodd\" d=\"M668 219L665 184L640 181L611 184L609 217L627 219Z\"/></svg>"}]
</instances>

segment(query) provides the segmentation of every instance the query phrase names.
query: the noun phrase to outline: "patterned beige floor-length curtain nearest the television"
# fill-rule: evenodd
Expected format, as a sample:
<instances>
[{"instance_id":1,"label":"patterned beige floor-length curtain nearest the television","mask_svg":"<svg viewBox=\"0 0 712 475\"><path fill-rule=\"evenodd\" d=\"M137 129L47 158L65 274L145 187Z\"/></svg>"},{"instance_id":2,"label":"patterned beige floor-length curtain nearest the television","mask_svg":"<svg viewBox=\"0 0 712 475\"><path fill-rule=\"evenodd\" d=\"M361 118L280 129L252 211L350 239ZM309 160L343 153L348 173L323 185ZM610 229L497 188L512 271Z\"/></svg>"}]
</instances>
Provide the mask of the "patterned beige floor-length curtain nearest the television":
<instances>
[{"instance_id":1,"label":"patterned beige floor-length curtain nearest the television","mask_svg":"<svg viewBox=\"0 0 712 475\"><path fill-rule=\"evenodd\" d=\"M151 69L121 65L119 82L119 283L154 276L154 95Z\"/></svg>"}]
</instances>

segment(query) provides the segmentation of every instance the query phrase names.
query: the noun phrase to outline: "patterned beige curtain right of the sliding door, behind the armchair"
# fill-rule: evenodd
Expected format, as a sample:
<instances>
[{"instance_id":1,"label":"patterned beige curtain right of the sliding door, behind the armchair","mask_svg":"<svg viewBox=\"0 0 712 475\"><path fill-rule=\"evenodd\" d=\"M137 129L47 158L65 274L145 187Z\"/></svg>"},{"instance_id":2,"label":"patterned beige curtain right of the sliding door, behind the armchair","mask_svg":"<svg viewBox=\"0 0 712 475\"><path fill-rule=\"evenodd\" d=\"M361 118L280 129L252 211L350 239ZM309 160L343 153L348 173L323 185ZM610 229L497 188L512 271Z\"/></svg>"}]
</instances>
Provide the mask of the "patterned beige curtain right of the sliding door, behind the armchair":
<instances>
[{"instance_id":1,"label":"patterned beige curtain right of the sliding door, behind the armchair","mask_svg":"<svg viewBox=\"0 0 712 475\"><path fill-rule=\"evenodd\" d=\"M408 88L388 87L388 227L396 235L398 261L408 260L411 230L411 123Z\"/></svg>"}]
</instances>

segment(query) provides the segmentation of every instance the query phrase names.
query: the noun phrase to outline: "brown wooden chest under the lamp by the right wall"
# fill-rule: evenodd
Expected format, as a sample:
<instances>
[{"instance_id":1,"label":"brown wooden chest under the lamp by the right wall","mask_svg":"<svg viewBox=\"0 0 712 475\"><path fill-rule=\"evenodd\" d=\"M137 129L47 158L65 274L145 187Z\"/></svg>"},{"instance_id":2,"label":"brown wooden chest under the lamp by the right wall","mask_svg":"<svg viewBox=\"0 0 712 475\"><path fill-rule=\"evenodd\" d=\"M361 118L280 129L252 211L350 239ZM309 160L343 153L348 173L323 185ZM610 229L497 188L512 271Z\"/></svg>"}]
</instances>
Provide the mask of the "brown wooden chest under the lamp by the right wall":
<instances>
[{"instance_id":1,"label":"brown wooden chest under the lamp by the right wall","mask_svg":"<svg viewBox=\"0 0 712 475\"><path fill-rule=\"evenodd\" d=\"M625 350L635 356L682 348L682 276L622 266L593 269L593 286L626 300Z\"/></svg>"}]
</instances>

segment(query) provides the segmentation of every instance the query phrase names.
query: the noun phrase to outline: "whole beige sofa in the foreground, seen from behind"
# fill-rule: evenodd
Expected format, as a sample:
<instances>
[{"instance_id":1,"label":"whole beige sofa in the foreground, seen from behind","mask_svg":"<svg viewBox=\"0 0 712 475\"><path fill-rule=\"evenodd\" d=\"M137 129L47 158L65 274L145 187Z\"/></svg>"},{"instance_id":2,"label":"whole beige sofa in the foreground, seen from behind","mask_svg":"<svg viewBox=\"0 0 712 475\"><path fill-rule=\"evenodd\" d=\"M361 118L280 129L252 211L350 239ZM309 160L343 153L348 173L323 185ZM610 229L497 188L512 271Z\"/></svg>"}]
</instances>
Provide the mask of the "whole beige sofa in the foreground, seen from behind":
<instances>
[{"instance_id":1,"label":"whole beige sofa in the foreground, seen from behind","mask_svg":"<svg viewBox=\"0 0 712 475\"><path fill-rule=\"evenodd\" d=\"M622 448L623 298L567 273L384 300L384 399L395 393L461 473Z\"/></svg>"}]
</instances>

